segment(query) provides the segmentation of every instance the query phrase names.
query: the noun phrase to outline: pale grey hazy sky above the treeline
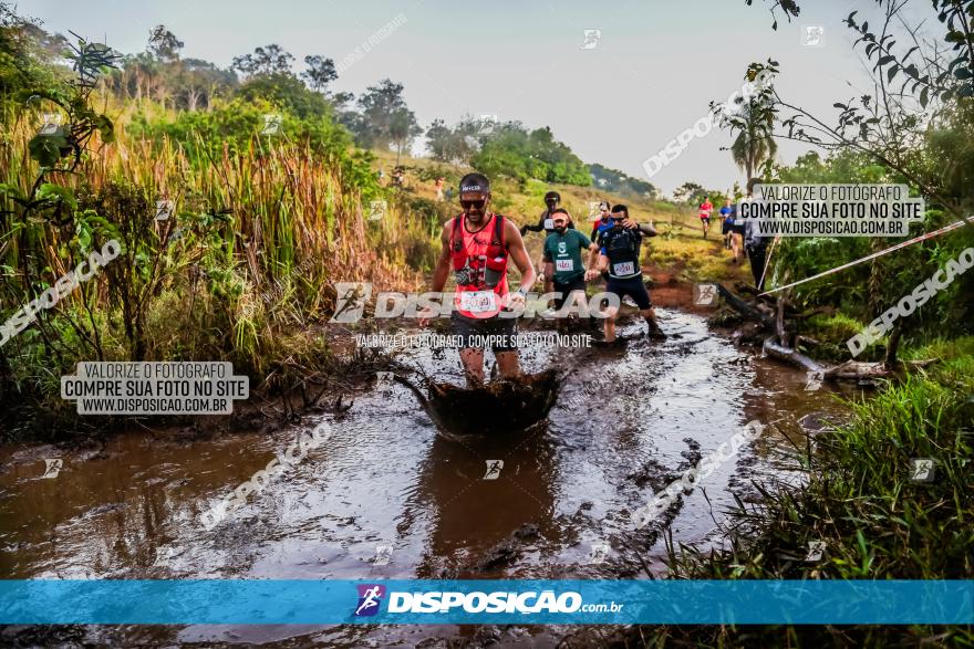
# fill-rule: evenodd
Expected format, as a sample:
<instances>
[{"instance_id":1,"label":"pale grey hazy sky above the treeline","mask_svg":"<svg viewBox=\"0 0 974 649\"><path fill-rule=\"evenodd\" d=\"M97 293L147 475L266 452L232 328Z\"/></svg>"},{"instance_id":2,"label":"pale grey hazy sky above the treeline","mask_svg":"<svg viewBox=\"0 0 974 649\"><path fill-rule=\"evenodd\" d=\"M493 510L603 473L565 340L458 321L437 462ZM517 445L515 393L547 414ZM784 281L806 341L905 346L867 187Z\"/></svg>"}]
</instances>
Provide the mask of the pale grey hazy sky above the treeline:
<instances>
[{"instance_id":1,"label":"pale grey hazy sky above the treeline","mask_svg":"<svg viewBox=\"0 0 974 649\"><path fill-rule=\"evenodd\" d=\"M731 154L721 150L731 136L718 129L692 139L652 177L643 163L706 116L711 101L738 90L752 61L777 61L778 93L829 121L832 104L871 91L842 20L853 9L869 17L875 3L800 4L790 23L778 14L777 31L768 0L752 7L744 0L21 0L18 12L49 31L104 39L126 53L145 50L149 30L165 24L185 42L184 57L220 66L269 43L296 56L296 71L308 54L345 60L351 64L334 91L358 95L388 77L405 86L424 127L464 115L550 126L586 163L669 193L688 180L712 189L744 184ZM393 21L367 53L354 54ZM823 30L818 45L804 43L809 27ZM600 30L593 48L582 48L586 30ZM778 159L792 163L807 150L781 140Z\"/></svg>"}]
</instances>

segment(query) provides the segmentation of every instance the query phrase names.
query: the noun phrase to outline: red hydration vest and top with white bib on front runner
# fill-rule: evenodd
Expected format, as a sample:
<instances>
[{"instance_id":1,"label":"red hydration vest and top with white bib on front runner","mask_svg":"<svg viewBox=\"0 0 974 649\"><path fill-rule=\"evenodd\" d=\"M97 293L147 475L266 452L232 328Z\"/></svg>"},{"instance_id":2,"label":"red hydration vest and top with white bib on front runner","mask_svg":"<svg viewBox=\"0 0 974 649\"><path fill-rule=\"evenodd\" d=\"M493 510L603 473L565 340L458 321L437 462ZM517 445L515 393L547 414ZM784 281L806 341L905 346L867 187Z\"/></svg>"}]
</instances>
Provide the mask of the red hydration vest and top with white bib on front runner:
<instances>
[{"instance_id":1,"label":"red hydration vest and top with white bib on front runner","mask_svg":"<svg viewBox=\"0 0 974 649\"><path fill-rule=\"evenodd\" d=\"M453 220L449 257L457 284L454 308L467 317L497 315L501 300L508 293L504 217L490 214L490 219L493 227L488 220L477 232L467 232L464 214Z\"/></svg>"}]
</instances>

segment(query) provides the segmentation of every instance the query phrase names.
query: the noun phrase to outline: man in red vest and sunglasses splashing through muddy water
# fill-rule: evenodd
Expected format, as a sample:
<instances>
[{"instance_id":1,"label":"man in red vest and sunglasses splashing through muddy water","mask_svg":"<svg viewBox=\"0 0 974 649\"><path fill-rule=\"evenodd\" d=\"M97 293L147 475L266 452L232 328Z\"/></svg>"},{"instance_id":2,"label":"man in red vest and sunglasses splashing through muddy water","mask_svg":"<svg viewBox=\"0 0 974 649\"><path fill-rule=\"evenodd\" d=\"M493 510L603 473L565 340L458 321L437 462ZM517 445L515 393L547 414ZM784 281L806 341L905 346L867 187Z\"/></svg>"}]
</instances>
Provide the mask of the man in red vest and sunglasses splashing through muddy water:
<instances>
[{"instance_id":1,"label":"man in red vest and sunglasses splashing through muddy water","mask_svg":"<svg viewBox=\"0 0 974 649\"><path fill-rule=\"evenodd\" d=\"M517 226L488 210L490 182L481 174L467 174L460 180L464 211L443 227L443 247L433 272L433 292L446 285L450 268L456 280L452 328L460 341L460 360L467 386L484 383L484 347L488 344L497 358L501 378L520 375L516 346L517 318L504 311L522 311L528 287L535 283L535 268ZM521 286L511 293L507 283L508 259L521 274ZM432 307L419 312L419 325L436 315Z\"/></svg>"}]
</instances>

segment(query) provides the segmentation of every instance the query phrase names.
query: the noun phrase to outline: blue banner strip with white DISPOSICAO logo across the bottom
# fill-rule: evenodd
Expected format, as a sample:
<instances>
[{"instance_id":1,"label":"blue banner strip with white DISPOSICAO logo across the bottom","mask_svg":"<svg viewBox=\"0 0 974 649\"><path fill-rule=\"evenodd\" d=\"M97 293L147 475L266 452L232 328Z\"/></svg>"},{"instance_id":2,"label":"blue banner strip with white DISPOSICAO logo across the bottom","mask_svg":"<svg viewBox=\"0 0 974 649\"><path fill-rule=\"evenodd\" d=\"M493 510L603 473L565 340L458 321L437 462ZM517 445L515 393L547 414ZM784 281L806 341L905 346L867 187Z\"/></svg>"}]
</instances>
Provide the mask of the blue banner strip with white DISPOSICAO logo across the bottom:
<instances>
[{"instance_id":1,"label":"blue banner strip with white DISPOSICAO logo across the bottom","mask_svg":"<svg viewBox=\"0 0 974 649\"><path fill-rule=\"evenodd\" d=\"M974 580L0 580L0 624L970 625Z\"/></svg>"}]
</instances>

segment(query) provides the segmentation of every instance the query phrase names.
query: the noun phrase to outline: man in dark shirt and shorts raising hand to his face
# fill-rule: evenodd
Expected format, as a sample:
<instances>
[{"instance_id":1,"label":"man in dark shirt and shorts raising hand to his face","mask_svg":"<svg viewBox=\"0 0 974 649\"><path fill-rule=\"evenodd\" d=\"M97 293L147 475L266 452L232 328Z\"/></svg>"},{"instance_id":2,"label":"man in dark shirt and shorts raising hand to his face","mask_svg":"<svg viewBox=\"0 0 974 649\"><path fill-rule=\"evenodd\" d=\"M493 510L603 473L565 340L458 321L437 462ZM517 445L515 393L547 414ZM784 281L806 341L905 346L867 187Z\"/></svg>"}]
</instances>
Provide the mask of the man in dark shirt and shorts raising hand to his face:
<instances>
[{"instance_id":1,"label":"man in dark shirt and shorts raising hand to his face","mask_svg":"<svg viewBox=\"0 0 974 649\"><path fill-rule=\"evenodd\" d=\"M629 216L629 208L616 205L612 208L612 228L602 232L599 265L608 266L609 281L605 291L619 295L621 301L629 295L640 310L640 315L646 321L651 338L662 339L666 337L663 329L656 323L656 312L650 300L650 292L643 283L643 271L640 266L640 245L643 235L655 237L656 229L652 223L636 223ZM605 342L615 341L615 318L618 308L610 306L607 310Z\"/></svg>"}]
</instances>

